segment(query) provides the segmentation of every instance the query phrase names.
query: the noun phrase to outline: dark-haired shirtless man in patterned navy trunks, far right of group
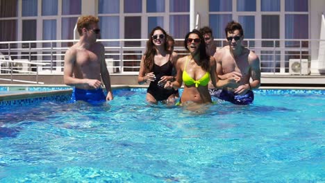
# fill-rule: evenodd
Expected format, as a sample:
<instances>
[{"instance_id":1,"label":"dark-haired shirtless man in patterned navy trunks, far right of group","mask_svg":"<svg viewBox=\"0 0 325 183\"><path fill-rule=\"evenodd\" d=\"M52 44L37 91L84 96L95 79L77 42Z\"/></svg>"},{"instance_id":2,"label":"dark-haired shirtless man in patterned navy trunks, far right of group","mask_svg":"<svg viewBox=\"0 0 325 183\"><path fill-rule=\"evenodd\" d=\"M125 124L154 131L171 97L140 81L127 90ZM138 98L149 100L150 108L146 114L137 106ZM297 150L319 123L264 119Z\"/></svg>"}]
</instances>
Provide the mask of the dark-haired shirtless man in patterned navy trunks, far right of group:
<instances>
[{"instance_id":1,"label":"dark-haired shirtless man in patterned navy trunks, far right of group","mask_svg":"<svg viewBox=\"0 0 325 183\"><path fill-rule=\"evenodd\" d=\"M260 59L242 46L244 30L238 22L229 22L225 33L228 46L214 55L218 89L210 86L210 94L237 105L248 105L253 103L252 90L260 87Z\"/></svg>"}]
</instances>

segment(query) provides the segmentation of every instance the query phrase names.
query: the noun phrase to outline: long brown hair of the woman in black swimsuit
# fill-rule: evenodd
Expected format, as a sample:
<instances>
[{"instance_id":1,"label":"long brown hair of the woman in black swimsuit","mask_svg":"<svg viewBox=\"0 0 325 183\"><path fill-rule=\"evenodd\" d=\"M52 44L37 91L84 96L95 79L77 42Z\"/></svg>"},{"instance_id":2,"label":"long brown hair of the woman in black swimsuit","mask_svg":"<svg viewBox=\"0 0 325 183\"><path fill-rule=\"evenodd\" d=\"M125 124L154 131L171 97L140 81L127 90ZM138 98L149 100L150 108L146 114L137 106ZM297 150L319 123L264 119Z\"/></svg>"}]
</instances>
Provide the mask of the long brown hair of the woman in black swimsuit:
<instances>
[{"instance_id":1,"label":"long brown hair of the woman in black swimsuit","mask_svg":"<svg viewBox=\"0 0 325 183\"><path fill-rule=\"evenodd\" d=\"M153 33L156 30L161 30L163 32L163 34L165 35L165 37L167 37L167 33L166 31L161 28L160 26L156 26L155 28L153 28L151 30L151 33L149 34L149 40L147 41L147 49L146 52L144 53L144 71L146 72L151 72L153 69L153 63L154 60L153 58L155 57L157 51L156 51L156 46L155 44L153 44ZM165 43L164 43L164 49L165 51L167 51L167 44L166 44L166 38L165 38Z\"/></svg>"}]
</instances>

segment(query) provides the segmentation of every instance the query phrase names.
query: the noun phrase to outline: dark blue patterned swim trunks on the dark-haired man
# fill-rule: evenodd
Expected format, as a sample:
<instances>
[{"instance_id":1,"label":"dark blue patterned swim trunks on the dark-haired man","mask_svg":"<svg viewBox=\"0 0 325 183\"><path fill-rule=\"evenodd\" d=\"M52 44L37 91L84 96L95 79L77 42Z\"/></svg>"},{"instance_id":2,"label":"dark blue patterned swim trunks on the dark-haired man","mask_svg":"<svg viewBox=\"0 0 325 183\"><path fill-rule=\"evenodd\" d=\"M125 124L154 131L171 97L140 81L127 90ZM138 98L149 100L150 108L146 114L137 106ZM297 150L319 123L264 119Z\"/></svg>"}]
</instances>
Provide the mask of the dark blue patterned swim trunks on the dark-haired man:
<instances>
[{"instance_id":1,"label":"dark blue patterned swim trunks on the dark-haired man","mask_svg":"<svg viewBox=\"0 0 325 183\"><path fill-rule=\"evenodd\" d=\"M210 95L236 105L249 105L254 101L254 93L249 90L244 95L238 95L225 89L209 89Z\"/></svg>"}]
</instances>

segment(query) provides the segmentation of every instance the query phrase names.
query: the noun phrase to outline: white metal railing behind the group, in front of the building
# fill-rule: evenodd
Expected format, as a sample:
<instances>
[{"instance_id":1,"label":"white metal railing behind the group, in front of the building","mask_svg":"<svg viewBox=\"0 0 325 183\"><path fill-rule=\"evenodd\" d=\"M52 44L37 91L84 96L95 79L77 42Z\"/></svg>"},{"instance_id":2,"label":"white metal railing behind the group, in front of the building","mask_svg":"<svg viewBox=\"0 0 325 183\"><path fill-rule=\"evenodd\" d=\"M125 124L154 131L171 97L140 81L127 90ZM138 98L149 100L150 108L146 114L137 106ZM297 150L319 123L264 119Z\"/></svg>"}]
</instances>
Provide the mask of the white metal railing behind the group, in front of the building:
<instances>
[{"instance_id":1,"label":"white metal railing behind the group, in front of the building","mask_svg":"<svg viewBox=\"0 0 325 183\"><path fill-rule=\"evenodd\" d=\"M138 73L147 39L99 41L105 45L110 73ZM1 53L12 58L12 64L8 60L0 60L1 74L63 74L65 51L75 42L76 40L0 42L0 58ZM310 66L312 60L317 60L319 45L325 44L325 40L246 39L243 43L260 57L263 74L290 74L290 59L308 60ZM215 39L215 44L222 47L227 43L224 39ZM180 56L188 54L183 47L183 39L176 39L175 51Z\"/></svg>"}]
</instances>

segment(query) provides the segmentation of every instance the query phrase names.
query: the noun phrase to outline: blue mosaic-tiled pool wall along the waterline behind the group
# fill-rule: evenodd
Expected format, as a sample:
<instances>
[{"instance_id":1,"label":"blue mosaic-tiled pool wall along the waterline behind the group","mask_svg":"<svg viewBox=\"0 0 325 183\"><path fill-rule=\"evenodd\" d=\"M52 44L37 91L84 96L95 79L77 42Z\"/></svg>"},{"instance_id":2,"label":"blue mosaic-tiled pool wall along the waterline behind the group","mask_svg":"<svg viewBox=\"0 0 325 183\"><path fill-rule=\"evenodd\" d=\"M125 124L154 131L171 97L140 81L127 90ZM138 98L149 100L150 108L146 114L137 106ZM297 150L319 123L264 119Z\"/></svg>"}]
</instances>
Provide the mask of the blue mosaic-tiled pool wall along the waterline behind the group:
<instances>
[{"instance_id":1,"label":"blue mosaic-tiled pool wall along the waterline behind the group","mask_svg":"<svg viewBox=\"0 0 325 183\"><path fill-rule=\"evenodd\" d=\"M9 106L9 105L32 105L35 103L40 103L43 101L56 101L56 102L68 102L71 101L72 92L53 92L53 91L62 91L69 90L72 87L2 87L0 86L0 92L12 91L12 92L26 92L26 98L19 99L1 99L0 95L0 107ZM113 89L113 94L122 91L131 91L131 92L146 92L147 88L138 88L138 87L126 87L126 88L115 88ZM182 92L181 89L180 92ZM29 95L27 95L27 92ZM30 94L30 92L39 92L36 93L40 96L35 96ZM47 96L42 96L42 93L50 93ZM256 89L254 90L255 94L313 94L313 95L325 95L325 89ZM21 94L24 96L24 94Z\"/></svg>"}]
</instances>

